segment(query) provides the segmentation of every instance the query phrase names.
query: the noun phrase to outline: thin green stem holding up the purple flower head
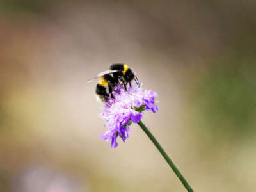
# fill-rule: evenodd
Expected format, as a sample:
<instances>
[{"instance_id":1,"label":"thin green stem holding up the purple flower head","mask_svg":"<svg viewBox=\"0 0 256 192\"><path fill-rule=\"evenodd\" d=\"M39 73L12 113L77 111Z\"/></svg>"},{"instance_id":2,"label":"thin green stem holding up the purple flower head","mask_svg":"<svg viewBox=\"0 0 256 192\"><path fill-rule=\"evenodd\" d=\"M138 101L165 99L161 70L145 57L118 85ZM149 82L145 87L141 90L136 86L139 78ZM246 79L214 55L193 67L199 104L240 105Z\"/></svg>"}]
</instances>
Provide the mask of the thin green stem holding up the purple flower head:
<instances>
[{"instance_id":1,"label":"thin green stem holding up the purple flower head","mask_svg":"<svg viewBox=\"0 0 256 192\"><path fill-rule=\"evenodd\" d=\"M161 147L161 145L158 143L158 141L156 140L156 138L152 135L152 133L148 130L148 128L143 124L143 122L138 122L138 124L140 125L141 129L143 129L143 131L147 134L148 138L150 138L150 140L154 143L154 145L156 146L156 148L159 150L159 152L162 154L162 156L164 157L165 161L170 165L170 167L172 168L173 172L177 175L177 177L179 177L180 181L182 182L182 184L184 185L184 187L189 191L189 192L193 192L193 189L191 188L191 186L189 186L188 182L186 181L186 179L183 177L183 175L180 173L180 171L178 170L178 168L175 166L175 164L172 162L172 160L170 159L170 157L166 154L166 152L164 151L164 149Z\"/></svg>"}]
</instances>

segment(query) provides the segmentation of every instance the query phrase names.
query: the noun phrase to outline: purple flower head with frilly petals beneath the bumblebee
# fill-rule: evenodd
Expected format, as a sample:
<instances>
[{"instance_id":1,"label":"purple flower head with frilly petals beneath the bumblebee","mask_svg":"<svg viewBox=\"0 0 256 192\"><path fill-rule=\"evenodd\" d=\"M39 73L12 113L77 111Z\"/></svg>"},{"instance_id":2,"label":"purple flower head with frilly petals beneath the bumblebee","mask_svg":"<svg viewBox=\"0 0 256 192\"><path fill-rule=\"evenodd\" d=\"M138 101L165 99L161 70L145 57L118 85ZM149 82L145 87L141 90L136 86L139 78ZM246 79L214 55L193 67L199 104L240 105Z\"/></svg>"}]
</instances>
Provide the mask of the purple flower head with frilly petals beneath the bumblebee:
<instances>
[{"instance_id":1,"label":"purple flower head with frilly petals beneath the bumblebee","mask_svg":"<svg viewBox=\"0 0 256 192\"><path fill-rule=\"evenodd\" d=\"M123 86L118 84L113 90L115 99L109 99L104 105L103 113L99 116L106 121L108 131L100 134L100 138L111 140L111 147L116 148L116 138L118 136L125 141L129 136L129 126L140 122L143 111L151 110L153 113L158 111L154 102L157 97L156 92L145 90L137 86L131 86L126 91Z\"/></svg>"}]
</instances>

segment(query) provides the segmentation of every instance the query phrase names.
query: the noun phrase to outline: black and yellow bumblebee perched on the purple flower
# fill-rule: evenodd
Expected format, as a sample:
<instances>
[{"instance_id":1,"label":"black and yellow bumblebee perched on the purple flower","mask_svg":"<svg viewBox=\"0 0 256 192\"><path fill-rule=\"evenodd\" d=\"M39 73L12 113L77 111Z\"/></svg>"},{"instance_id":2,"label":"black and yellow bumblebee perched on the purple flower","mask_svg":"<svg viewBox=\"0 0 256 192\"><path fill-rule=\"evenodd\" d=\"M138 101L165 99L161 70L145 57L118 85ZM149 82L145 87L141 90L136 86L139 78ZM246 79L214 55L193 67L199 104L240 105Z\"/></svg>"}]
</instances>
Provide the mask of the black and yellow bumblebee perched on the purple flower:
<instances>
[{"instance_id":1,"label":"black and yellow bumblebee perched on the purple flower","mask_svg":"<svg viewBox=\"0 0 256 192\"><path fill-rule=\"evenodd\" d=\"M140 87L137 77L127 65L116 63L110 65L109 69L110 70L101 72L97 77L88 80L88 82L91 82L93 79L99 78L95 92L102 102L108 102L109 98L114 98L112 93L113 88L115 88L118 83L121 83L125 90L127 90L127 84L129 83L131 86L131 81L134 79L136 84Z\"/></svg>"}]
</instances>

